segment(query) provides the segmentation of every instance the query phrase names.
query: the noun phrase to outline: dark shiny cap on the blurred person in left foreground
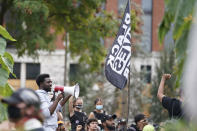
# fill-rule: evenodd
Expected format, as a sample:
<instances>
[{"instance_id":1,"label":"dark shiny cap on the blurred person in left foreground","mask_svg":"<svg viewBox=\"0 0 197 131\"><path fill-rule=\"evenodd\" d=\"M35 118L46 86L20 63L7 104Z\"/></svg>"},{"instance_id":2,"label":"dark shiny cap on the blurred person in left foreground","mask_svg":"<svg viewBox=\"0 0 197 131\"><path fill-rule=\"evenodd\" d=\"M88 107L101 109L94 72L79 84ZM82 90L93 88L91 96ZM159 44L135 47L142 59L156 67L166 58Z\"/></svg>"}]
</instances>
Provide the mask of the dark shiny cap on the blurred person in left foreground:
<instances>
[{"instance_id":1,"label":"dark shiny cap on the blurred person in left foreground","mask_svg":"<svg viewBox=\"0 0 197 131\"><path fill-rule=\"evenodd\" d=\"M20 88L10 97L3 98L1 101L9 105L15 105L24 102L27 105L34 105L36 107L40 106L39 96L34 90L29 88Z\"/></svg>"}]
</instances>

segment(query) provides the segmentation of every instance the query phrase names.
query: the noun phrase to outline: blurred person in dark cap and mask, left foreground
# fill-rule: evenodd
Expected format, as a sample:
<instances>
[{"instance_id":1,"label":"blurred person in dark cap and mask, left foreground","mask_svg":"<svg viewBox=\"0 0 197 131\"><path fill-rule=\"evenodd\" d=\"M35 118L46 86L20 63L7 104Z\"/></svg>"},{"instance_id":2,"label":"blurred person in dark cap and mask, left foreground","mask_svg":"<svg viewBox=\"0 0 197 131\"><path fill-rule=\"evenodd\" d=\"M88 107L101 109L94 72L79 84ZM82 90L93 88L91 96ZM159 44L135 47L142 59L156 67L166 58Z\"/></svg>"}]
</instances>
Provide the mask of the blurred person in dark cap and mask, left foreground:
<instances>
[{"instance_id":1,"label":"blurred person in dark cap and mask, left foreground","mask_svg":"<svg viewBox=\"0 0 197 131\"><path fill-rule=\"evenodd\" d=\"M40 99L33 90L20 88L2 102L8 104L8 117L17 131L44 131Z\"/></svg>"}]
</instances>

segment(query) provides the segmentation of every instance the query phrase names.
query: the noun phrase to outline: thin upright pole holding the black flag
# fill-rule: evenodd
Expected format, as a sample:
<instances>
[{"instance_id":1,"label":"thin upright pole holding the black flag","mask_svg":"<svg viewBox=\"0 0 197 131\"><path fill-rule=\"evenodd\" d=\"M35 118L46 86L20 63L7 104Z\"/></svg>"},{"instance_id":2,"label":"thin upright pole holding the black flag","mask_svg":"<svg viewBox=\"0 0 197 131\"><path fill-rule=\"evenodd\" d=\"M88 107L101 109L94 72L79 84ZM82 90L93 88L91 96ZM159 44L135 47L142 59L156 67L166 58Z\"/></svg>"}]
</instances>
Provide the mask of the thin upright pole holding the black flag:
<instances>
[{"instance_id":1,"label":"thin upright pole holding the black flag","mask_svg":"<svg viewBox=\"0 0 197 131\"><path fill-rule=\"evenodd\" d=\"M130 0L128 0L128 2L129 2L129 11L131 11L131 2L130 2ZM131 59L130 59L130 61L131 61ZM129 75L128 76L128 85L127 85L128 86L128 98L127 98L127 102L128 103L127 103L127 120L126 120L127 121L127 126L128 126L128 122L129 122L129 108L130 108L130 76L131 76L131 64L130 64L130 67L129 67L129 74L128 75Z\"/></svg>"}]
</instances>

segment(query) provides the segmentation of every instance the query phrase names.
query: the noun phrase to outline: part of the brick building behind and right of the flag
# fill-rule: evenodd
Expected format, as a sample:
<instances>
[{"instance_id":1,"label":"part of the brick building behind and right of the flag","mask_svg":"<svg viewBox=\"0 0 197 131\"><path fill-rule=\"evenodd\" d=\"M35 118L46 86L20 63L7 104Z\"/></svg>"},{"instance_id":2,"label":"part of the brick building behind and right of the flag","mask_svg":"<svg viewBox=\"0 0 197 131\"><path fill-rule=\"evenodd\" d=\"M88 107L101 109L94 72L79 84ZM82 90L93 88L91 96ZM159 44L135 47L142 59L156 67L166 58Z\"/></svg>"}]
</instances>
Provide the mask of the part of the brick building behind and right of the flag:
<instances>
[{"instance_id":1,"label":"part of the brick building behind and right of the flag","mask_svg":"<svg viewBox=\"0 0 197 131\"><path fill-rule=\"evenodd\" d=\"M107 0L106 10L117 16L121 15L126 3L127 0ZM132 58L132 66L135 66L137 71L146 70L148 72L146 82L150 83L155 74L155 66L159 62L160 51L170 40L169 38L164 46L159 44L158 41L158 27L164 15L164 0L131 0L131 3L137 4L143 10L141 15L143 21L141 40L136 44L146 54L143 58L140 55ZM106 47L109 47L113 39L107 39L105 42Z\"/></svg>"}]
</instances>

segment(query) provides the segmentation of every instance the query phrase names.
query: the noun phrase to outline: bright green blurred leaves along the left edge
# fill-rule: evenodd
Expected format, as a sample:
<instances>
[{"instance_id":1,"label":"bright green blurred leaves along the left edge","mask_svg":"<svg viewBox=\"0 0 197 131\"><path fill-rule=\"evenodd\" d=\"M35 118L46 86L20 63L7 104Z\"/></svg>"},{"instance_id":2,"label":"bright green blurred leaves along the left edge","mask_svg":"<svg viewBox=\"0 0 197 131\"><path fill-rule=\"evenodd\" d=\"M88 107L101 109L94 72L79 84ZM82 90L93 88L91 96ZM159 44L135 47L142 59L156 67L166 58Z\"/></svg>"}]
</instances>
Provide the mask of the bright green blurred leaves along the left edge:
<instances>
[{"instance_id":1,"label":"bright green blurred leaves along the left edge","mask_svg":"<svg viewBox=\"0 0 197 131\"><path fill-rule=\"evenodd\" d=\"M5 51L6 41L16 41L0 25L0 97L10 96L12 87L7 83L9 74L13 74L14 61L12 56ZM14 74L13 74L14 75ZM0 102L0 122L7 118L6 107Z\"/></svg>"}]
</instances>

